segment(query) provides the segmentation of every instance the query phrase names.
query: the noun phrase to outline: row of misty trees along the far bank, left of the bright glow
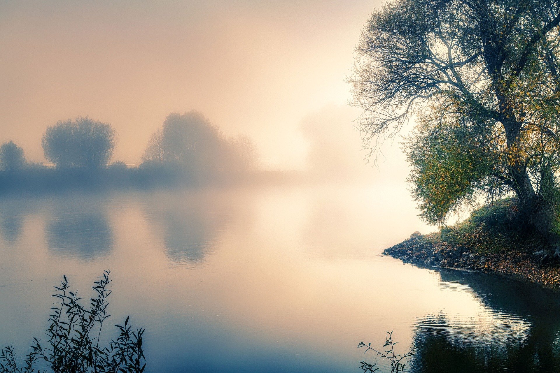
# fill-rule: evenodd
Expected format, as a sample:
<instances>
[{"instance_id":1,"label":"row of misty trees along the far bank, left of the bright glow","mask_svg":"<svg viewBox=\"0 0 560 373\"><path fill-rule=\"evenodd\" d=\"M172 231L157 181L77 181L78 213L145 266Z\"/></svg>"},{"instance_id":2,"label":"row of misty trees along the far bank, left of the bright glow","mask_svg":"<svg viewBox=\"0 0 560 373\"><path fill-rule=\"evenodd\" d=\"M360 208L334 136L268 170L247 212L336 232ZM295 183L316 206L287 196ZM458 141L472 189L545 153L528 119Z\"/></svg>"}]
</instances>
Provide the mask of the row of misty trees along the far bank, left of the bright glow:
<instances>
[{"instance_id":1,"label":"row of misty trees along the far bank, left of the bright glow","mask_svg":"<svg viewBox=\"0 0 560 373\"><path fill-rule=\"evenodd\" d=\"M41 145L45 159L60 170L94 171L127 169L122 161L109 163L116 146L116 131L110 124L78 117L48 126ZM165 168L183 173L247 171L255 166L256 147L248 136L225 136L198 111L167 116L148 140L141 169ZM0 146L0 169L13 173L45 168L29 163L24 150L13 141Z\"/></svg>"}]
</instances>

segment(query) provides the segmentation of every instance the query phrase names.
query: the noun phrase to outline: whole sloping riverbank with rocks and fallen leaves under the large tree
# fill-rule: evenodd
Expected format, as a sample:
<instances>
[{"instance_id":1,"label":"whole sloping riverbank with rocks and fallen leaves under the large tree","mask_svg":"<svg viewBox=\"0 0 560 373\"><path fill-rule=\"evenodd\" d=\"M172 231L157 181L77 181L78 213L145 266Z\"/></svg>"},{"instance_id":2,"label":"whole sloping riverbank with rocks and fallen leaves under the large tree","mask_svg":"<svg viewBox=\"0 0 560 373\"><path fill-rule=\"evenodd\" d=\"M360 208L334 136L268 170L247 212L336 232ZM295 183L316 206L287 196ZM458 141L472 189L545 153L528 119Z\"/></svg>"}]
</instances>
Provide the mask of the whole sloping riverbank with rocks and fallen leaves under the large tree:
<instances>
[{"instance_id":1,"label":"whole sloping riverbank with rocks and fallen leaves under the large tree","mask_svg":"<svg viewBox=\"0 0 560 373\"><path fill-rule=\"evenodd\" d=\"M547 243L515 217L515 201L475 210L460 224L410 238L384 254L421 267L495 273L560 290L560 261Z\"/></svg>"}]
</instances>

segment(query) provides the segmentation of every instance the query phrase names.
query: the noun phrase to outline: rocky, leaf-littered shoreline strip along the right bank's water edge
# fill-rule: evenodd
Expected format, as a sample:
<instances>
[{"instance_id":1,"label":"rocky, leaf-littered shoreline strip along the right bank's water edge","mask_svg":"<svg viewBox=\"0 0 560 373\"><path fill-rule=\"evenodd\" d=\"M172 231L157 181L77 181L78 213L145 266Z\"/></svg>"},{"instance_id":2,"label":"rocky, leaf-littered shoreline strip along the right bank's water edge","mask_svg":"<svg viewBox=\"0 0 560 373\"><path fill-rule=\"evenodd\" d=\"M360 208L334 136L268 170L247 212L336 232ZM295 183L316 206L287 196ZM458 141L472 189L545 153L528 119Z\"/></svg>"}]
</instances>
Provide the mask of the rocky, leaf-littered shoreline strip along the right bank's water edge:
<instances>
[{"instance_id":1,"label":"rocky, leaf-littered shoreline strip along the right bank's water edge","mask_svg":"<svg viewBox=\"0 0 560 373\"><path fill-rule=\"evenodd\" d=\"M495 273L560 290L560 267L547 266L543 261L543 253L508 251L480 254L469 247L437 239L434 234L422 235L419 232L414 232L410 238L383 252L418 267Z\"/></svg>"}]
</instances>

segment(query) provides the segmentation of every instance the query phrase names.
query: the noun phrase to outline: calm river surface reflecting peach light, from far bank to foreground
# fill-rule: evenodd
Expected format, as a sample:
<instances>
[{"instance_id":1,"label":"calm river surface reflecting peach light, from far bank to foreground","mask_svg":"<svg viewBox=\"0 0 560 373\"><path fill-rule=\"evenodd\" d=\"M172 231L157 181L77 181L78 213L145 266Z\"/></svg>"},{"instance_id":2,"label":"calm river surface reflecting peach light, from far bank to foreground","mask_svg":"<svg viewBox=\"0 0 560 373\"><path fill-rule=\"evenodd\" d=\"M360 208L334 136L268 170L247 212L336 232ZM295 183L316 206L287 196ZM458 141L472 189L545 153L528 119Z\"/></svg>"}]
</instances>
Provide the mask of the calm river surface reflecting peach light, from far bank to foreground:
<instances>
[{"instance_id":1,"label":"calm river surface reflecting peach light, from far bank to foreground","mask_svg":"<svg viewBox=\"0 0 560 373\"><path fill-rule=\"evenodd\" d=\"M394 330L413 372L560 371L560 296L381 256L427 232L402 187L0 200L0 342L41 336L52 286L110 268L111 324L146 327L150 372L358 372ZM110 336L107 336L107 338ZM390 369L378 361L379 372Z\"/></svg>"}]
</instances>

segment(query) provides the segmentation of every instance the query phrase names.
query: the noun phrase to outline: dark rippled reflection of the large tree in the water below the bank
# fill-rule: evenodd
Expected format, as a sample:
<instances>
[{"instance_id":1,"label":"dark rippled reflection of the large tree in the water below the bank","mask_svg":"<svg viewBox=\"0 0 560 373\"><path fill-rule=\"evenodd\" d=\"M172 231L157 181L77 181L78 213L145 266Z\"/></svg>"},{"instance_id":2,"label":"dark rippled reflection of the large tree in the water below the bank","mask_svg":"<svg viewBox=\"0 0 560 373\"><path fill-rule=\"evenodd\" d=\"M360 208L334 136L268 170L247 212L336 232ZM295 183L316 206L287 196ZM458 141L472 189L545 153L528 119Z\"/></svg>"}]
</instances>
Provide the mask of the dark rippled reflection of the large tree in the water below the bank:
<instances>
[{"instance_id":1,"label":"dark rippled reflection of the large tree in the water below the bank","mask_svg":"<svg viewBox=\"0 0 560 373\"><path fill-rule=\"evenodd\" d=\"M494 313L454 320L427 315L414 329L414 372L560 372L560 297L536 286L480 273L441 271L446 285L465 284Z\"/></svg>"}]
</instances>

